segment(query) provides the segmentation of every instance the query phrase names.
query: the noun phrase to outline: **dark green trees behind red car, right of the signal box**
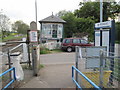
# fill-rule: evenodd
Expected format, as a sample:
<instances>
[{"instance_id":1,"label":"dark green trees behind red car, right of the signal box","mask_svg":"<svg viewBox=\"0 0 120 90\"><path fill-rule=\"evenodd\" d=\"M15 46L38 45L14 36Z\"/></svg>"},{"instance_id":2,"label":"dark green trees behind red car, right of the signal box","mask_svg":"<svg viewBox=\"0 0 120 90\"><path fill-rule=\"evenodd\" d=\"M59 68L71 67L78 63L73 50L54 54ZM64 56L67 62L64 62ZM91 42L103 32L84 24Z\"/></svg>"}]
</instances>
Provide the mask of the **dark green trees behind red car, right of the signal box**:
<instances>
[{"instance_id":1,"label":"dark green trees behind red car, right of the signal box","mask_svg":"<svg viewBox=\"0 0 120 90\"><path fill-rule=\"evenodd\" d=\"M64 24L64 37L81 37L79 35L88 35L89 40L93 39L94 20L91 18L77 18L70 11L60 11L58 16L61 16L67 23Z\"/></svg>"}]
</instances>

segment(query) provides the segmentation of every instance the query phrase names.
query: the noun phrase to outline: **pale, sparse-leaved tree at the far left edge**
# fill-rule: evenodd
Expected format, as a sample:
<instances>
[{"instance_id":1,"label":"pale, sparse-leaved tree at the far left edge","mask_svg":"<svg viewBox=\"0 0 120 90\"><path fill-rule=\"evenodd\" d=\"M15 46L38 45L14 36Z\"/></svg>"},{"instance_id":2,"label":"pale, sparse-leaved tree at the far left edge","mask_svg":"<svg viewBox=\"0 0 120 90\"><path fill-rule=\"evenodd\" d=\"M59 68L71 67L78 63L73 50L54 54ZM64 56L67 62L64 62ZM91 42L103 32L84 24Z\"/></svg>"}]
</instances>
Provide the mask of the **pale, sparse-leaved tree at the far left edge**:
<instances>
[{"instance_id":1,"label":"pale, sparse-leaved tree at the far left edge","mask_svg":"<svg viewBox=\"0 0 120 90\"><path fill-rule=\"evenodd\" d=\"M0 32L2 33L2 39L9 35L10 19L0 12Z\"/></svg>"}]
</instances>

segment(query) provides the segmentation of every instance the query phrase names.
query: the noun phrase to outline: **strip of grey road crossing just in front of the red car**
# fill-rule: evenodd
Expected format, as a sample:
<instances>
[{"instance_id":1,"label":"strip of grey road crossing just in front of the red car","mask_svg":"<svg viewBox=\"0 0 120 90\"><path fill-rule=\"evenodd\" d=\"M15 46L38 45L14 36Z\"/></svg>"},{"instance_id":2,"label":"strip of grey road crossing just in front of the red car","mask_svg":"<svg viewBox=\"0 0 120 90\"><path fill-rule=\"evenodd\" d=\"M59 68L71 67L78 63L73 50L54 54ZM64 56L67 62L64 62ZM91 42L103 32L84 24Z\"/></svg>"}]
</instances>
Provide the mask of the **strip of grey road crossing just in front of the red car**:
<instances>
[{"instance_id":1,"label":"strip of grey road crossing just in front of the red car","mask_svg":"<svg viewBox=\"0 0 120 90\"><path fill-rule=\"evenodd\" d=\"M75 63L75 52L40 55L41 64L73 64Z\"/></svg>"}]
</instances>

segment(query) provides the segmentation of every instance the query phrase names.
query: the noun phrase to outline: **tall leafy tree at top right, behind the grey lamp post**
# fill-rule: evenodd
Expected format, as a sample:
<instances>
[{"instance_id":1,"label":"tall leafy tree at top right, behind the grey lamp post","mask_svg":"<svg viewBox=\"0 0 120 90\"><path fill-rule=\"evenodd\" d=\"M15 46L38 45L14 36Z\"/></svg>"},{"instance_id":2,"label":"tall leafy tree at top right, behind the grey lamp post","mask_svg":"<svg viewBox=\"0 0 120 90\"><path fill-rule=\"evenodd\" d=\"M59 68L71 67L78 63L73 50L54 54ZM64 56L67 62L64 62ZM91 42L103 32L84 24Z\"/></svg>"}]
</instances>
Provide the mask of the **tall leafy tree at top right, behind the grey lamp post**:
<instances>
[{"instance_id":1,"label":"tall leafy tree at top right, behind the grey lamp post","mask_svg":"<svg viewBox=\"0 0 120 90\"><path fill-rule=\"evenodd\" d=\"M95 22L99 22L100 18L100 2L86 2L80 3L80 8L75 10L75 16L79 18L90 17ZM114 19L120 13L120 5L116 2L104 2L103 3L103 21L107 21L108 18Z\"/></svg>"}]
</instances>

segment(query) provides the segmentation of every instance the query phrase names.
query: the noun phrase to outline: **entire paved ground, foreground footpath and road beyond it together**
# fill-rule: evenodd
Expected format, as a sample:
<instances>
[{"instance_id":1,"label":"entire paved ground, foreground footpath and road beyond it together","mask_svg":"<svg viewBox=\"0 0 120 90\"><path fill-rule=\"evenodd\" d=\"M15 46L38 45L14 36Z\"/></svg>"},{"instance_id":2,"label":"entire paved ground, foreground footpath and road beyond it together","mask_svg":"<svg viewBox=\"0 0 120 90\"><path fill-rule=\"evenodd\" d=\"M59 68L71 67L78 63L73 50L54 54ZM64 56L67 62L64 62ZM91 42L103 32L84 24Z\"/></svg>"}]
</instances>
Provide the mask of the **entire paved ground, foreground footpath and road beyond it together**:
<instances>
[{"instance_id":1,"label":"entire paved ground, foreground footpath and road beyond it together","mask_svg":"<svg viewBox=\"0 0 120 90\"><path fill-rule=\"evenodd\" d=\"M75 88L72 81L75 53L41 55L40 60L44 68L21 88Z\"/></svg>"}]
</instances>

